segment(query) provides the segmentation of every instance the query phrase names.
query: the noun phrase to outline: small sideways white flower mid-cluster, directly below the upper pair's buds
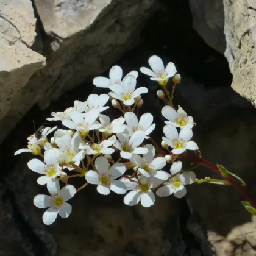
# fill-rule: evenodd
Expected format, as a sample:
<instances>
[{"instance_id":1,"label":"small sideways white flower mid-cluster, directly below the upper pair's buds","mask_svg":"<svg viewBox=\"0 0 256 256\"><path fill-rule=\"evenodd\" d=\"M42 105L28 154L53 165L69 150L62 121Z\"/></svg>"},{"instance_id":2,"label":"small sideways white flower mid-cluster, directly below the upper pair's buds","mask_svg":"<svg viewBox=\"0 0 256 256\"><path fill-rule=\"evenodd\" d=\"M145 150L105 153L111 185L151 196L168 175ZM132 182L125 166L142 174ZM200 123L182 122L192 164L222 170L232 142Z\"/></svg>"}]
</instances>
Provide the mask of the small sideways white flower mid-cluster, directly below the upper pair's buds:
<instances>
[{"instance_id":1,"label":"small sideways white flower mid-cluster, directly below the upper pair's buds","mask_svg":"<svg viewBox=\"0 0 256 256\"><path fill-rule=\"evenodd\" d=\"M124 124L125 119L123 117L115 119L110 123L109 116L101 114L99 115L99 121L102 124L102 127L101 129L99 129L99 132L103 132L108 136L111 135L112 133L124 132L124 130L126 129L126 126Z\"/></svg>"}]
</instances>

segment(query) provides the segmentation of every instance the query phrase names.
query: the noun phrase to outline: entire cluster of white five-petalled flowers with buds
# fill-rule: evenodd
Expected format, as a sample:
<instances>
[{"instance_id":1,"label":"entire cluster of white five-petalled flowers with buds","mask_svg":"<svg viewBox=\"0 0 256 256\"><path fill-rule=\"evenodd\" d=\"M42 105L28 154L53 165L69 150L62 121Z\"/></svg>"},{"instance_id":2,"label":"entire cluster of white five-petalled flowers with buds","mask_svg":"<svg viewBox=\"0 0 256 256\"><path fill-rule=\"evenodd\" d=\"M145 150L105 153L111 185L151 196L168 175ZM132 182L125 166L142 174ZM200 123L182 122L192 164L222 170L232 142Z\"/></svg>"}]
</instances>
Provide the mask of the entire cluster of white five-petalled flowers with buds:
<instances>
[{"instance_id":1,"label":"entire cluster of white five-petalled flowers with buds","mask_svg":"<svg viewBox=\"0 0 256 256\"><path fill-rule=\"evenodd\" d=\"M152 56L149 65L152 71L148 68L140 71L151 76L165 91L170 77L174 77L174 88L179 84L180 75L176 74L173 63L165 68L160 57ZM185 185L195 182L194 172L182 169L182 162L176 161L187 150L198 150L197 144L191 141L193 118L181 107L176 111L173 94L160 91L159 98L168 105L162 108L162 115L167 119L163 127L165 137L162 147L157 146L151 137L154 117L151 113L138 115L143 105L141 95L148 89L136 88L137 71L122 77L121 67L113 66L109 78L94 78L96 87L108 88L110 92L91 94L85 102L74 101L74 106L64 112L52 113L48 120L59 121L66 129L57 126L40 129L28 138L26 149L15 152L15 155L30 152L39 158L27 165L31 171L41 174L37 183L46 185L51 194L34 198L36 207L48 208L43 215L44 224L52 224L58 213L62 218L68 217L72 207L66 201L87 185L96 185L95 189L104 196L125 194L126 205L141 202L143 207L150 207L155 194L160 197L174 194L180 198L186 194ZM108 102L121 113L119 118L106 115ZM85 180L82 187L69 184L75 177ZM61 189L60 184L63 184Z\"/></svg>"}]
</instances>

